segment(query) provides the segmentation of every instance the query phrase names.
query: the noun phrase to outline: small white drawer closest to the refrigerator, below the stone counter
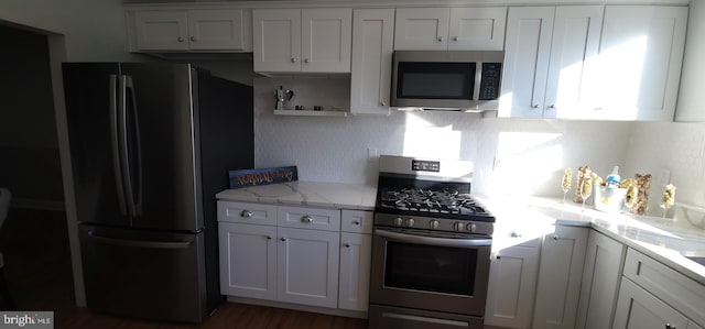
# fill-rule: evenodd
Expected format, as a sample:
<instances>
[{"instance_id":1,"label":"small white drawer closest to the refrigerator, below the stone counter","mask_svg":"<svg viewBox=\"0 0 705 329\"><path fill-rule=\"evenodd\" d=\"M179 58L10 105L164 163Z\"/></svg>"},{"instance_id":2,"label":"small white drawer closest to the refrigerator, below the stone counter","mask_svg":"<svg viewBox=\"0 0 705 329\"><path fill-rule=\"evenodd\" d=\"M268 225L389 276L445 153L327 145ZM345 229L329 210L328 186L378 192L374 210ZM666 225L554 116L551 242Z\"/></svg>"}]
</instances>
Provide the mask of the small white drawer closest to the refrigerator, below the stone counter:
<instances>
[{"instance_id":1,"label":"small white drawer closest to the refrigerator, below the stone counter","mask_svg":"<svg viewBox=\"0 0 705 329\"><path fill-rule=\"evenodd\" d=\"M276 206L218 201L218 221L276 226Z\"/></svg>"}]
</instances>

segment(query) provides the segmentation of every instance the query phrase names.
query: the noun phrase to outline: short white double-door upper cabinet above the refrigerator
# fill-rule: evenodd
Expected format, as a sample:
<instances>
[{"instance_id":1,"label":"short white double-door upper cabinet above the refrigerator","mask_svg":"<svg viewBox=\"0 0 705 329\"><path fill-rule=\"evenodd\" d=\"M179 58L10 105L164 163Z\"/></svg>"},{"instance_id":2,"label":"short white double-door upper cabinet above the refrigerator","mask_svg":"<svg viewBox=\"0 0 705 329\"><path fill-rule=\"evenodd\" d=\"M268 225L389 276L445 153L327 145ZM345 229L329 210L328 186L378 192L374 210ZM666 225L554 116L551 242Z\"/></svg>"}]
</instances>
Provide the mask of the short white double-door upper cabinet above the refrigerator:
<instances>
[{"instance_id":1,"label":"short white double-door upper cabinet above the refrigerator","mask_svg":"<svg viewBox=\"0 0 705 329\"><path fill-rule=\"evenodd\" d=\"M150 10L129 14L134 51L251 51L250 12L242 9Z\"/></svg>"}]
</instances>

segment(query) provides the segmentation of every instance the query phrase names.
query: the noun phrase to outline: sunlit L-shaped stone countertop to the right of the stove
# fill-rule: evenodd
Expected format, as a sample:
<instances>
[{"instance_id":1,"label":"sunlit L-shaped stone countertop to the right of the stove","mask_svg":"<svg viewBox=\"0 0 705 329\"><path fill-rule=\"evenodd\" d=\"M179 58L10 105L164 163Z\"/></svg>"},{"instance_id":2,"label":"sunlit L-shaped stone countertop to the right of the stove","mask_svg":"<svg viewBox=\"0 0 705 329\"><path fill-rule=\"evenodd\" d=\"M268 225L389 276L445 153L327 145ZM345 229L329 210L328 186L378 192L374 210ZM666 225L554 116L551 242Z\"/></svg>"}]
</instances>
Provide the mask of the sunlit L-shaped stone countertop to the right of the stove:
<instances>
[{"instance_id":1,"label":"sunlit L-shaped stone countertop to the right of the stove","mask_svg":"<svg viewBox=\"0 0 705 329\"><path fill-rule=\"evenodd\" d=\"M705 285L705 266L683 255L687 252L705 254L705 229L684 219L608 213L594 210L590 205L583 210L579 204L570 200L563 204L562 200L536 197L480 197L480 200L497 217L496 228L545 228L554 223L593 228Z\"/></svg>"}]
</instances>

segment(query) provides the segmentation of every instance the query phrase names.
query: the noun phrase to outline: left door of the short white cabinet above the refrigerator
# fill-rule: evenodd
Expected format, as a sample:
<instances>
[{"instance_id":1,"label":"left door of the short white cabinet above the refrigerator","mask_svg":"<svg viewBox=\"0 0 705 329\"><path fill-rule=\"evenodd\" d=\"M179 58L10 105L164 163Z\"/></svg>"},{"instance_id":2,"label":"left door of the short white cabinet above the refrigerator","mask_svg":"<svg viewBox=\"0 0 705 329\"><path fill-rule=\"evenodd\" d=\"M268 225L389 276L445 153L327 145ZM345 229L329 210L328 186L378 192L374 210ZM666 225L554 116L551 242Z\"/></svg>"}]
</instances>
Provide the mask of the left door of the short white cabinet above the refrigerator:
<instances>
[{"instance_id":1,"label":"left door of the short white cabinet above the refrigerator","mask_svg":"<svg viewBox=\"0 0 705 329\"><path fill-rule=\"evenodd\" d=\"M188 20L185 11L138 11L134 37L140 51L188 50Z\"/></svg>"}]
</instances>

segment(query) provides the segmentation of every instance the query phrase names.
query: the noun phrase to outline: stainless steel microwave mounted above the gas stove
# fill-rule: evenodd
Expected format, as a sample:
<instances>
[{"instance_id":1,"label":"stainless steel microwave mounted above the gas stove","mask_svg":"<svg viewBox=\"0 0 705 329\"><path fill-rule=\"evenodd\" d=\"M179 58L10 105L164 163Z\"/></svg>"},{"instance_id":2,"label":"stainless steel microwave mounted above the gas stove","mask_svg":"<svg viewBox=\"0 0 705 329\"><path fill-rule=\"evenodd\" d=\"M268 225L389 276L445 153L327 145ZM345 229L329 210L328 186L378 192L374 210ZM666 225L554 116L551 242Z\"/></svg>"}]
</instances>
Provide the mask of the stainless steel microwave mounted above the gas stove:
<instances>
[{"instance_id":1,"label":"stainless steel microwave mounted above the gas stove","mask_svg":"<svg viewBox=\"0 0 705 329\"><path fill-rule=\"evenodd\" d=\"M394 52L391 106L398 109L497 109L500 51Z\"/></svg>"}]
</instances>

